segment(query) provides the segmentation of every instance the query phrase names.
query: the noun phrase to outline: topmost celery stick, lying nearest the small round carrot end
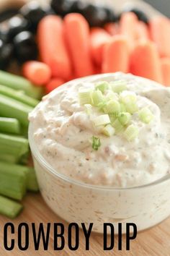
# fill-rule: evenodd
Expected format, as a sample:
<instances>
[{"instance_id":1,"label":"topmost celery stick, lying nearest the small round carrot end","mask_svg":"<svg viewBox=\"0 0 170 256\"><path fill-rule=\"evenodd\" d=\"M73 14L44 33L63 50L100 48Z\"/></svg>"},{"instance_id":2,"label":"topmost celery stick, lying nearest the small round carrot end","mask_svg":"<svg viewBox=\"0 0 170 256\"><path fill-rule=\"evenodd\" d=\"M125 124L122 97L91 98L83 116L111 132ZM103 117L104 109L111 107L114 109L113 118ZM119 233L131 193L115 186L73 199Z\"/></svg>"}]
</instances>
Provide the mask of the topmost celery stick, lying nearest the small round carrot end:
<instances>
[{"instance_id":1,"label":"topmost celery stick, lying nearest the small round carrot end","mask_svg":"<svg viewBox=\"0 0 170 256\"><path fill-rule=\"evenodd\" d=\"M15 74L0 71L0 84L6 85L14 90L24 90L24 92L32 98L42 97L42 88L35 87L29 80Z\"/></svg>"}]
</instances>

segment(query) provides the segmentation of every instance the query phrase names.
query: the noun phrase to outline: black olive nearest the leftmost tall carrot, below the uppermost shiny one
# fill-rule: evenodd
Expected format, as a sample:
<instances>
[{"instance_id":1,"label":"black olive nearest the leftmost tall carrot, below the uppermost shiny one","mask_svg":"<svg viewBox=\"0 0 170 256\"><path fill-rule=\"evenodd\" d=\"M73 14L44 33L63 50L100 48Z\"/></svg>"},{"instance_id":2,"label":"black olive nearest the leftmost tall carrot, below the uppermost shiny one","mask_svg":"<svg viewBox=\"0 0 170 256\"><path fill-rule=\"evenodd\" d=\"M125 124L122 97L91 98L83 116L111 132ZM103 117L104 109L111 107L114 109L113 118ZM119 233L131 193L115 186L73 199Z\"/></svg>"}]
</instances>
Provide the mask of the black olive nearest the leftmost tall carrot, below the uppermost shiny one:
<instances>
[{"instance_id":1,"label":"black olive nearest the leftmost tall carrot, below the uppermost shiny one","mask_svg":"<svg viewBox=\"0 0 170 256\"><path fill-rule=\"evenodd\" d=\"M21 64L37 59L37 44L32 33L24 31L14 37L14 55Z\"/></svg>"}]
</instances>

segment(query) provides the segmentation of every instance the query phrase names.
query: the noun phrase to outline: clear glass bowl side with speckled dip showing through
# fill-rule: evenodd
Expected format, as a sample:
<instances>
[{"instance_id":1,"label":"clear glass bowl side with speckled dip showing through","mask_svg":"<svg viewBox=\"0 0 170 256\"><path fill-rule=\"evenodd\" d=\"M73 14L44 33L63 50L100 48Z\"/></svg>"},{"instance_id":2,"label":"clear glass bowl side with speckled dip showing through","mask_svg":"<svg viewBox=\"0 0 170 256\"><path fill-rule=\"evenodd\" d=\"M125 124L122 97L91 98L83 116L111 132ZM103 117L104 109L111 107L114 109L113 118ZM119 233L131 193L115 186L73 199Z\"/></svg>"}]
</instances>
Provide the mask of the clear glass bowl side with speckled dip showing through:
<instances>
[{"instance_id":1,"label":"clear glass bowl side with speckled dip showing through","mask_svg":"<svg viewBox=\"0 0 170 256\"><path fill-rule=\"evenodd\" d=\"M170 215L170 175L140 187L115 189L83 184L58 173L42 157L33 139L29 142L40 192L47 205L61 218L71 222L94 223L93 231L102 233L103 223L135 223L138 231L160 223Z\"/></svg>"}]
</instances>

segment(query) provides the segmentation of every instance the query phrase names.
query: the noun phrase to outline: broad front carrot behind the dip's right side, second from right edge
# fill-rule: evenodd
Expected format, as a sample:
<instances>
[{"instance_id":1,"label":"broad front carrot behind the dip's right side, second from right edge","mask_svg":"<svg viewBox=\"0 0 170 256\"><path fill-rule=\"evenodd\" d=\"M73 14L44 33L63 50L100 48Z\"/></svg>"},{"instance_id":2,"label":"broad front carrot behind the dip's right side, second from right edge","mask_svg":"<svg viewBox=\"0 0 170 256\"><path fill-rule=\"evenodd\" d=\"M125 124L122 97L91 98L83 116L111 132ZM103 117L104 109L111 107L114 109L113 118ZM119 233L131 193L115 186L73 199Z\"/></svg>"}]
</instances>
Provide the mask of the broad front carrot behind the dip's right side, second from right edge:
<instances>
[{"instance_id":1,"label":"broad front carrot behind the dip's right side, second from right edge","mask_svg":"<svg viewBox=\"0 0 170 256\"><path fill-rule=\"evenodd\" d=\"M131 55L130 72L162 82L161 63L155 43L149 40L137 43Z\"/></svg>"}]
</instances>

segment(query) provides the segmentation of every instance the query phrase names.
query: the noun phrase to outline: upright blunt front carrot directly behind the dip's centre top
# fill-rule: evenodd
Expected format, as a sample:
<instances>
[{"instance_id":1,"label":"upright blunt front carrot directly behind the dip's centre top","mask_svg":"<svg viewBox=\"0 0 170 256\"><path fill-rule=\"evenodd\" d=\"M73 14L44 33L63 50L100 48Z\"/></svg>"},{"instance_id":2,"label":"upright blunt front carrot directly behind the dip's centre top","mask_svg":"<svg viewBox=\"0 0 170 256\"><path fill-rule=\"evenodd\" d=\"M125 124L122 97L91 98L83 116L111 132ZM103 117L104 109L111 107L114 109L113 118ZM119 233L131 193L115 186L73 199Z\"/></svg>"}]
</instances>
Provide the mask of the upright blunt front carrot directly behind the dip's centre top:
<instances>
[{"instance_id":1,"label":"upright blunt front carrot directly behind the dip's centre top","mask_svg":"<svg viewBox=\"0 0 170 256\"><path fill-rule=\"evenodd\" d=\"M123 35L115 35L104 46L102 72L128 72L130 49L128 40Z\"/></svg>"}]
</instances>

